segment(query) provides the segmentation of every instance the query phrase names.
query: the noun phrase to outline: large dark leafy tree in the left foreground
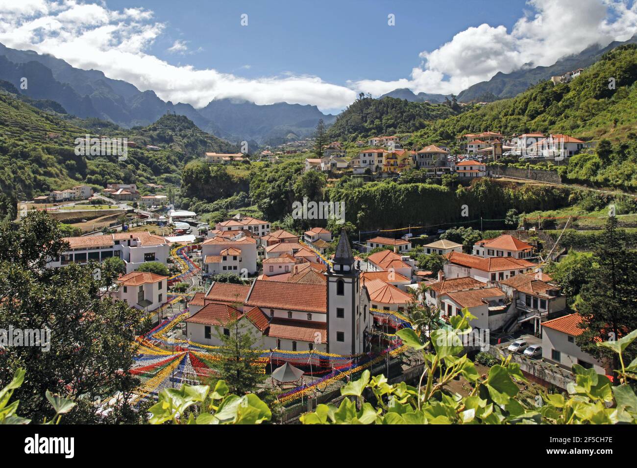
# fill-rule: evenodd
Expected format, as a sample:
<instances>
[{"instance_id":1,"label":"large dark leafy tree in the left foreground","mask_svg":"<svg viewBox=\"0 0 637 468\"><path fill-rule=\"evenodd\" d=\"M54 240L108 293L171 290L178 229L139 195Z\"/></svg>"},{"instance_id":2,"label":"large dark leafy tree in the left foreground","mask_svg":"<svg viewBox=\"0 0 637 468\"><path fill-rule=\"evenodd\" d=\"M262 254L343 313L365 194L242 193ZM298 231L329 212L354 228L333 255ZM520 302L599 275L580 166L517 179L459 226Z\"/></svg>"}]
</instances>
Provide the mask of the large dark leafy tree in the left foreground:
<instances>
[{"instance_id":1,"label":"large dark leafy tree in the left foreground","mask_svg":"<svg viewBox=\"0 0 637 468\"><path fill-rule=\"evenodd\" d=\"M117 278L110 266L46 267L68 250L57 225L43 211L27 214L18 229L0 225L0 323L36 330L45 344L5 348L0 382L25 369L27 379L15 395L33 420L50 416L50 390L77 402L65 422L137 422L140 415L129 402L140 381L129 370L134 339L147 331L148 321L142 311L103 297ZM118 399L111 411L99 415L99 403L113 395Z\"/></svg>"}]
</instances>

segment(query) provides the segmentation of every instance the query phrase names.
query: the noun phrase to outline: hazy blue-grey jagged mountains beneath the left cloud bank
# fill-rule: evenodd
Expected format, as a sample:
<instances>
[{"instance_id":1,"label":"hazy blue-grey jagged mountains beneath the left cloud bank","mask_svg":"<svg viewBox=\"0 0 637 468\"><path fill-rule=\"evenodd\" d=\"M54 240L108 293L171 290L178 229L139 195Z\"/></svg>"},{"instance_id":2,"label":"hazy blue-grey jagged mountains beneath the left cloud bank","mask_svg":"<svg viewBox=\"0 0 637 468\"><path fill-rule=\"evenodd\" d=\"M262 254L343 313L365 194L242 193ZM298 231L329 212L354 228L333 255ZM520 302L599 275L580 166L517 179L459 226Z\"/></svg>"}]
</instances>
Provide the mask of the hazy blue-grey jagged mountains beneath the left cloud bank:
<instances>
[{"instance_id":1,"label":"hazy blue-grey jagged mountains beneath the left cloud bank","mask_svg":"<svg viewBox=\"0 0 637 468\"><path fill-rule=\"evenodd\" d=\"M25 86L22 78L27 78ZM314 131L318 120L336 117L317 106L276 103L259 106L238 99L215 99L199 110L190 104L163 101L154 91L113 80L98 70L71 66L53 55L15 50L0 44L0 80L22 96L61 104L80 118L99 118L124 128L147 126L166 113L183 115L203 131L229 141L301 138ZM21 86L22 85L22 86Z\"/></svg>"}]
</instances>

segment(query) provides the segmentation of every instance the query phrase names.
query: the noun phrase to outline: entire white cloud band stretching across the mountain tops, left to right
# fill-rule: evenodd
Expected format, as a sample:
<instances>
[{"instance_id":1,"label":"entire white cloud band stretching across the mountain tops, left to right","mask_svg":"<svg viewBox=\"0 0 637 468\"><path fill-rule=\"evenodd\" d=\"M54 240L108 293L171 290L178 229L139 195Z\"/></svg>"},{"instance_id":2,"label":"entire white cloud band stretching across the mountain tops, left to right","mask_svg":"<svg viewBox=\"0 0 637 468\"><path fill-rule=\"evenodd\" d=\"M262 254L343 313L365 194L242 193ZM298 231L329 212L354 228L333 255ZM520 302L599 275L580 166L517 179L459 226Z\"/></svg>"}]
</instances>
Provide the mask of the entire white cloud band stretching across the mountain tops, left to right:
<instances>
[{"instance_id":1,"label":"entire white cloud band stretching across the mountain tops, left to right","mask_svg":"<svg viewBox=\"0 0 637 468\"><path fill-rule=\"evenodd\" d=\"M529 62L547 66L594 43L626 40L637 32L636 0L529 0L527 5L529 11L510 31L503 25L469 27L436 50L420 53L420 63L406 78L361 80L347 87L287 71L248 79L173 65L148 53L166 30L152 11L109 10L103 2L0 0L0 42L99 69L173 103L202 107L215 97L239 97L257 104L286 101L335 110L352 103L359 91L378 96L406 87L457 94L498 71L510 73ZM187 41L176 40L167 51L187 55L202 49L191 51Z\"/></svg>"}]
</instances>

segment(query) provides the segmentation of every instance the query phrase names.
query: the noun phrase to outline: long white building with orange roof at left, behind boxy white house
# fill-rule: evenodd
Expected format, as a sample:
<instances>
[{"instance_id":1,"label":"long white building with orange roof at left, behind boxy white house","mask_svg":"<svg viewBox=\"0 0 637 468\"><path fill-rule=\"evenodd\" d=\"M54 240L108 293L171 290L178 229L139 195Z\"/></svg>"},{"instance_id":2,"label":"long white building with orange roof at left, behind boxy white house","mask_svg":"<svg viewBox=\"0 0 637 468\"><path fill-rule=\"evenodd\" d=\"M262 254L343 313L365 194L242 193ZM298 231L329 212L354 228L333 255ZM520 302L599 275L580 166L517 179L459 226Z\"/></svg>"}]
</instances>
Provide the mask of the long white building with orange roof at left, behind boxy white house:
<instances>
[{"instance_id":1,"label":"long white building with orange roof at left, behind boxy white house","mask_svg":"<svg viewBox=\"0 0 637 468\"><path fill-rule=\"evenodd\" d=\"M69 250L48 263L47 267L57 268L72 262L101 262L110 257L117 257L124 260L126 273L131 273L145 262L160 262L166 265L170 250L166 239L150 232L118 232L64 240L69 243Z\"/></svg>"}]
</instances>

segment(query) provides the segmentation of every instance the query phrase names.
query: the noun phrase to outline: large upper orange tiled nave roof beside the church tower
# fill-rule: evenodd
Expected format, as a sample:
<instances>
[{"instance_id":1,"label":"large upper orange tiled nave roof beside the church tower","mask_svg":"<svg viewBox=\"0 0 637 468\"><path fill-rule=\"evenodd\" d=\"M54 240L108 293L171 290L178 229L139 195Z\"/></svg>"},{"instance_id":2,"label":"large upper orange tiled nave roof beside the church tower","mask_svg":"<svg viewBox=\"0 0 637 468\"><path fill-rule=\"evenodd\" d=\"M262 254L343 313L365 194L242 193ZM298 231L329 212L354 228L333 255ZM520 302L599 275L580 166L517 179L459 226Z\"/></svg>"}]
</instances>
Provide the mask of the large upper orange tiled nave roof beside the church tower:
<instances>
[{"instance_id":1,"label":"large upper orange tiled nave roof beside the church tower","mask_svg":"<svg viewBox=\"0 0 637 468\"><path fill-rule=\"evenodd\" d=\"M323 285L255 280L248 306L326 313L327 290Z\"/></svg>"}]
</instances>

